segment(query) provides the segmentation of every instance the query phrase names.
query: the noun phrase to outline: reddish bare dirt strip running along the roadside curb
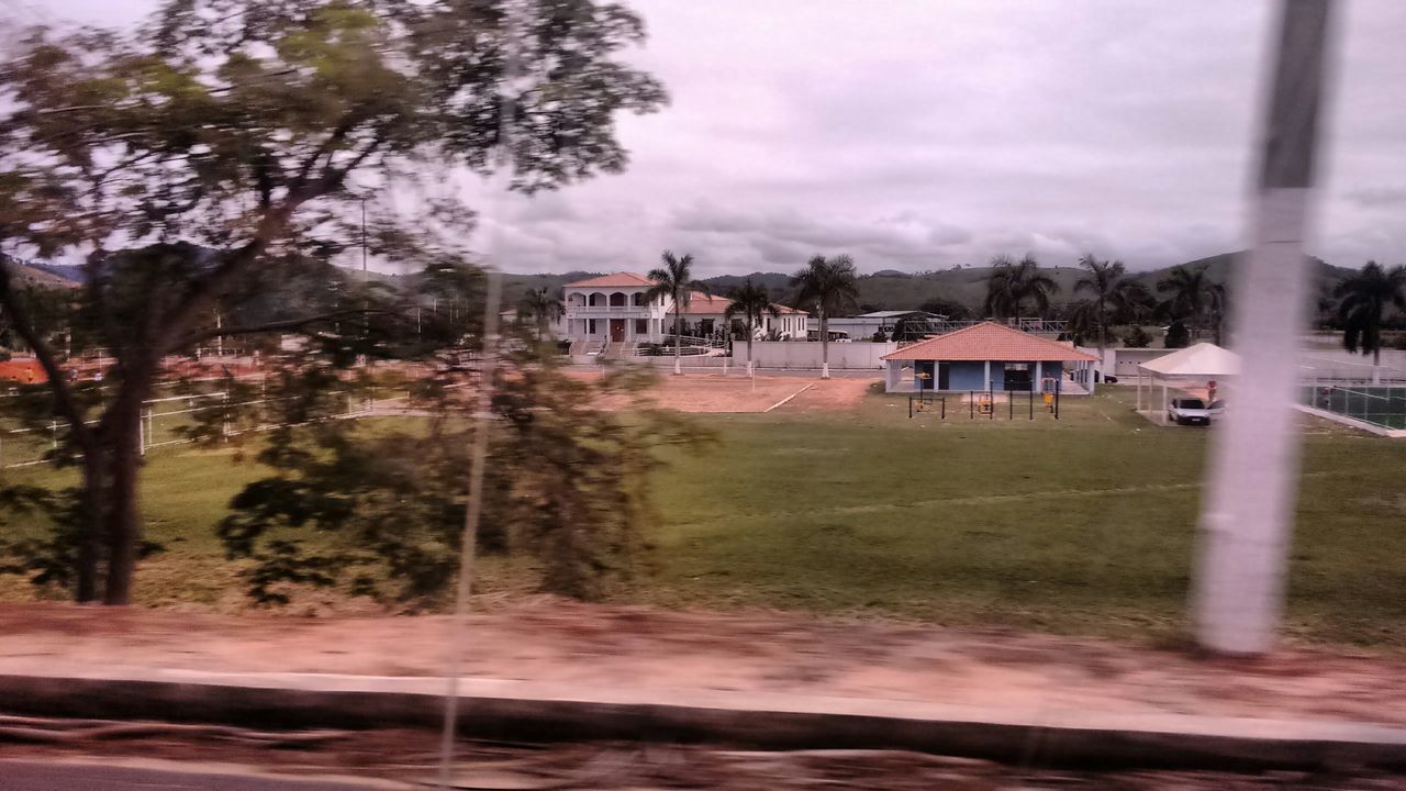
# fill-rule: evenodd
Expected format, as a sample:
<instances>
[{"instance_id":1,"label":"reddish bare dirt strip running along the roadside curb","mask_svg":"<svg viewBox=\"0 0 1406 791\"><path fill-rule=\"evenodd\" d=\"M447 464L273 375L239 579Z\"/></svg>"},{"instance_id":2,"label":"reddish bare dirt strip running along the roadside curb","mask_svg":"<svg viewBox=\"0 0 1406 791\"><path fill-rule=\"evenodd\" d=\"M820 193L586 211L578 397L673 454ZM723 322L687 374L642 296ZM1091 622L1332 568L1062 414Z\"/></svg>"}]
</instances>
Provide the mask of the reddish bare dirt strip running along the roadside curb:
<instances>
[{"instance_id":1,"label":"reddish bare dirt strip running along the roadside curb","mask_svg":"<svg viewBox=\"0 0 1406 791\"><path fill-rule=\"evenodd\" d=\"M439 676L441 616L302 619L0 607L0 673L84 667ZM541 598L478 614L465 676L592 687L917 700L1022 711L1312 718L1406 726L1406 657L1206 660L1109 640Z\"/></svg>"}]
</instances>

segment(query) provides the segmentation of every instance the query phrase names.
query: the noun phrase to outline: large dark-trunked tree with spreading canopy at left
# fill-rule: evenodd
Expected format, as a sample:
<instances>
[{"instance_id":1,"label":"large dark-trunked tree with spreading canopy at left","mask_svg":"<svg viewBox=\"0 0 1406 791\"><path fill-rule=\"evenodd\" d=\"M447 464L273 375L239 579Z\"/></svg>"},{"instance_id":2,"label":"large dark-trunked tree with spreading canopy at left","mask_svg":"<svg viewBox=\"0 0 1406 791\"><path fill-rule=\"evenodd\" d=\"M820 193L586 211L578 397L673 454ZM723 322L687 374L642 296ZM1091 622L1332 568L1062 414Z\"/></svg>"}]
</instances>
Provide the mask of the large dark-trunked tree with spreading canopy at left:
<instances>
[{"instance_id":1,"label":"large dark-trunked tree with spreading canopy at left","mask_svg":"<svg viewBox=\"0 0 1406 791\"><path fill-rule=\"evenodd\" d=\"M0 274L0 307L82 457L77 598L105 583L105 602L129 601L141 405L163 357L215 334L217 303L357 239L364 198L373 252L460 258L436 234L468 227L457 201L404 218L377 196L491 172L499 144L516 190L620 170L616 114L665 101L620 58L643 35L599 0L169 0L134 31L25 34L0 63L0 204L15 208L0 245L83 255L82 303L115 356L107 387L80 397Z\"/></svg>"}]
</instances>

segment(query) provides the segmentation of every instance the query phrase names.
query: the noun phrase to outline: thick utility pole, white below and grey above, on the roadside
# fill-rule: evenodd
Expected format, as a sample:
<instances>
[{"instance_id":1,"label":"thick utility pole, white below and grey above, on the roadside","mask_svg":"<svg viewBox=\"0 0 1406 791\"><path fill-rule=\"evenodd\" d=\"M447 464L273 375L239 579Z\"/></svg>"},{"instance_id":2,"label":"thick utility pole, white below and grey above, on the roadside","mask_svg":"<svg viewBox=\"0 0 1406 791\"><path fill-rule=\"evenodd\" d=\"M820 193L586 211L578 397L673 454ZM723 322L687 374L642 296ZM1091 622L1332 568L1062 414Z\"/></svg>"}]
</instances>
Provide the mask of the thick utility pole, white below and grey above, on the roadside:
<instances>
[{"instance_id":1,"label":"thick utility pole, white below and grey above, on the roadside","mask_svg":"<svg viewBox=\"0 0 1406 791\"><path fill-rule=\"evenodd\" d=\"M1251 221L1254 249L1233 267L1239 408L1212 436L1192 609L1213 652L1270 650L1284 609L1298 488L1298 345L1309 296L1303 255L1330 0L1282 0Z\"/></svg>"}]
</instances>

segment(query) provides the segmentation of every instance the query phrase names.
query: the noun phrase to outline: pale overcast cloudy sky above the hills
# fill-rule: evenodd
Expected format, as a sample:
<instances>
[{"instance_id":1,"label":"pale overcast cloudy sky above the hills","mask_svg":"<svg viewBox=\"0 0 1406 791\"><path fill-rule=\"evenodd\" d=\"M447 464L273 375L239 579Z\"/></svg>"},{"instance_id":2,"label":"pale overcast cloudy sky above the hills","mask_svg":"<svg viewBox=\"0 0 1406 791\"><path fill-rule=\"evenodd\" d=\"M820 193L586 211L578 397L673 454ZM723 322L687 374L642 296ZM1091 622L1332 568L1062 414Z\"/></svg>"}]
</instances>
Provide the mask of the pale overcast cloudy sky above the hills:
<instances>
[{"instance_id":1,"label":"pale overcast cloudy sky above the hills","mask_svg":"<svg viewBox=\"0 0 1406 791\"><path fill-rule=\"evenodd\" d=\"M15 0L18 1L18 0ZM34 0L121 23L152 0ZM1267 0L630 0L672 104L630 169L485 201L517 272L706 274L851 253L866 272L1083 252L1133 269L1243 246ZM1313 252L1406 260L1406 3L1343 6Z\"/></svg>"}]
</instances>

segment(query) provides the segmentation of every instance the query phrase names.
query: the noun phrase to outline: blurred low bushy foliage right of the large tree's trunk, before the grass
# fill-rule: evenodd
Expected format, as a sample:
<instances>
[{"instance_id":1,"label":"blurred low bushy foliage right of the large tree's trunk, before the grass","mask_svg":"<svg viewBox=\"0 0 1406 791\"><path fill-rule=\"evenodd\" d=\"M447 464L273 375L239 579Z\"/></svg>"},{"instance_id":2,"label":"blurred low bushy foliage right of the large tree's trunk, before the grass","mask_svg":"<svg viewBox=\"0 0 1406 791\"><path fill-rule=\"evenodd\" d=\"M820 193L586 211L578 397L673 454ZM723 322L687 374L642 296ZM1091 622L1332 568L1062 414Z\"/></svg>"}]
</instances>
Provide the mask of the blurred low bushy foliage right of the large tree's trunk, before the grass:
<instances>
[{"instance_id":1,"label":"blurred low bushy foliage right of the large tree's trunk, before the grass","mask_svg":"<svg viewBox=\"0 0 1406 791\"><path fill-rule=\"evenodd\" d=\"M479 549L530 555L544 590L598 598L634 570L648 545L655 449L693 446L707 434L648 408L643 374L606 370L582 381L530 349L505 363L495 380ZM299 366L308 370L315 369ZM252 597L287 602L298 586L339 584L433 604L447 593L475 431L472 403L449 383L441 377L416 398L430 415L420 431L325 419L335 405L322 407L323 419L304 407L283 417L307 425L270 432L257 460L273 474L246 486L219 525L231 557L254 562ZM307 387L309 401L325 390ZM593 405L600 397L638 408L600 411Z\"/></svg>"}]
</instances>

